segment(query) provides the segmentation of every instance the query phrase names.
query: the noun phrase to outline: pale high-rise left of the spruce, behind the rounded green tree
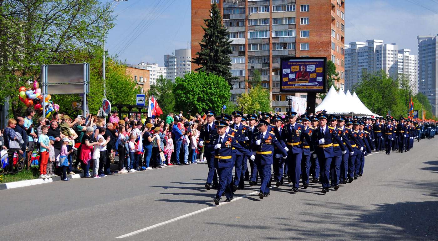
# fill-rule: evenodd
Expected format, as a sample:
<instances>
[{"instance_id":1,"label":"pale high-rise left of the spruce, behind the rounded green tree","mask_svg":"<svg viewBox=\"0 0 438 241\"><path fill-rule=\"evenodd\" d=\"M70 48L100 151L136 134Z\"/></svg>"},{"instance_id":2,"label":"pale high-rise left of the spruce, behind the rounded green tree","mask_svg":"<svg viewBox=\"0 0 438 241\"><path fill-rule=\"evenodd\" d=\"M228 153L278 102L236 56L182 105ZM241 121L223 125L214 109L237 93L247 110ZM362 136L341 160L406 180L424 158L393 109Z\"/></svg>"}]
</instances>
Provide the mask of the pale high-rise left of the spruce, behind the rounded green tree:
<instances>
[{"instance_id":1,"label":"pale high-rise left of the spruce, behind the rounded green tree","mask_svg":"<svg viewBox=\"0 0 438 241\"><path fill-rule=\"evenodd\" d=\"M164 67L167 67L167 78L175 82L176 77L184 77L191 71L191 49L176 49L175 52L164 55Z\"/></svg>"}]
</instances>

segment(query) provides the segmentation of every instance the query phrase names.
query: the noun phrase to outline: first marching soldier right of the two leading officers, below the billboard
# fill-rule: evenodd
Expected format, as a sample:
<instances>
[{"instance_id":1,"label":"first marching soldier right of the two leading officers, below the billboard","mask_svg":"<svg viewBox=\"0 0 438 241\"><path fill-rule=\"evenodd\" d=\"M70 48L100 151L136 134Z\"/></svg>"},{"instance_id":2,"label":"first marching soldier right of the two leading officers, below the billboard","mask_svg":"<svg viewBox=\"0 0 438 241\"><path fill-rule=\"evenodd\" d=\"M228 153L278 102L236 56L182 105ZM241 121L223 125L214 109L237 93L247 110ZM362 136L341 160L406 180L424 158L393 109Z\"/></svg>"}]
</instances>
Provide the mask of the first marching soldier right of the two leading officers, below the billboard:
<instances>
[{"instance_id":1,"label":"first marching soldier right of the two leading officers, below the billboard","mask_svg":"<svg viewBox=\"0 0 438 241\"><path fill-rule=\"evenodd\" d=\"M297 112L288 112L289 123L283 127L281 140L286 144L288 176L292 181L293 192L298 191L301 175L301 160L303 158L303 140L311 142L304 126L296 123ZM313 151L313 148L312 148ZM307 188L307 187L306 187Z\"/></svg>"}]
</instances>

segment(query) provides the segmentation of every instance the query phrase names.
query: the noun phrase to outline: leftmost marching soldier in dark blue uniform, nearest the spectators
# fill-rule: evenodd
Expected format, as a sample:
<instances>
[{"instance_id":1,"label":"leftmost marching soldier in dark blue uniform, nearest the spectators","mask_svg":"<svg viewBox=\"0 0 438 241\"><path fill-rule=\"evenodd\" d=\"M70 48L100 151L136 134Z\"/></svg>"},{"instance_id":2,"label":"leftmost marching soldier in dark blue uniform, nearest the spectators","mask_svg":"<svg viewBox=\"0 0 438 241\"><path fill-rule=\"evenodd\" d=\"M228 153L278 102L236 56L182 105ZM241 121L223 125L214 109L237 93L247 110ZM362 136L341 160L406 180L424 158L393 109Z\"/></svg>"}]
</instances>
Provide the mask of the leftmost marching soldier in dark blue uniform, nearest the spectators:
<instances>
[{"instance_id":1,"label":"leftmost marching soldier in dark blue uniform, nearest the spectators","mask_svg":"<svg viewBox=\"0 0 438 241\"><path fill-rule=\"evenodd\" d=\"M204 146L204 155L208 165L208 176L207 182L205 183L205 189L210 190L210 188L215 189L218 187L218 177L213 163L214 156L212 156L213 144L210 142L210 136L216 133L216 125L214 122L215 112L207 110L205 115L207 115L207 123L201 127L199 133L199 147Z\"/></svg>"}]
</instances>

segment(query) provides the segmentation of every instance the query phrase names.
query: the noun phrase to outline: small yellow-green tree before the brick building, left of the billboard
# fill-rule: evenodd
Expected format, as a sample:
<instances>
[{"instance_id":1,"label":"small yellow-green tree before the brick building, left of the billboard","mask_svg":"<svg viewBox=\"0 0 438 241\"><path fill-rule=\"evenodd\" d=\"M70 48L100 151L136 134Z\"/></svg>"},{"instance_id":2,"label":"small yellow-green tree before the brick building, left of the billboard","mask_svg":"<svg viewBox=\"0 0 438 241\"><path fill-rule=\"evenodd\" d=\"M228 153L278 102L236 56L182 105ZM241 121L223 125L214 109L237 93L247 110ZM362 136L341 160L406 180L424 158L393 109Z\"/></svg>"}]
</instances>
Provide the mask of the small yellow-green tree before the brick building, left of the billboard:
<instances>
[{"instance_id":1,"label":"small yellow-green tree before the brick building, left of the billboard","mask_svg":"<svg viewBox=\"0 0 438 241\"><path fill-rule=\"evenodd\" d=\"M244 93L238 97L237 105L248 114L253 114L258 111L272 111L271 103L269 101L269 90L263 88L261 85L251 87L248 93Z\"/></svg>"}]
</instances>

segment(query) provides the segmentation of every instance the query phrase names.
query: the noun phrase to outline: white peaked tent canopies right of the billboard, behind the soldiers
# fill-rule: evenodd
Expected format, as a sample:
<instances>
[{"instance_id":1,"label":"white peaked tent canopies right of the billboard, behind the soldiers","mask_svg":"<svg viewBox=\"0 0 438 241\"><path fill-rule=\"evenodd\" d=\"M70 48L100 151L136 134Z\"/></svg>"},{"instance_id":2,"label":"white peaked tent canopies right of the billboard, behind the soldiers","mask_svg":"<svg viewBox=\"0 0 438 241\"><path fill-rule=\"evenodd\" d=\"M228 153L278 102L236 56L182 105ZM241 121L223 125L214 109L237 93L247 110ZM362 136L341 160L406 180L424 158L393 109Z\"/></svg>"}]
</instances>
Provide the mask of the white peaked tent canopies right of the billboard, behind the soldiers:
<instances>
[{"instance_id":1,"label":"white peaked tent canopies right of the billboard, behind the soldiers","mask_svg":"<svg viewBox=\"0 0 438 241\"><path fill-rule=\"evenodd\" d=\"M350 90L346 94L342 90L337 93L334 86L330 87L329 93L315 108L317 112L323 110L328 114L376 115L360 101L356 93L351 95Z\"/></svg>"}]
</instances>

